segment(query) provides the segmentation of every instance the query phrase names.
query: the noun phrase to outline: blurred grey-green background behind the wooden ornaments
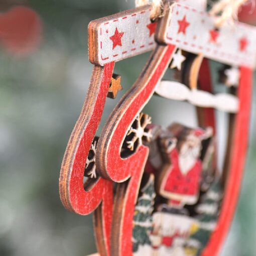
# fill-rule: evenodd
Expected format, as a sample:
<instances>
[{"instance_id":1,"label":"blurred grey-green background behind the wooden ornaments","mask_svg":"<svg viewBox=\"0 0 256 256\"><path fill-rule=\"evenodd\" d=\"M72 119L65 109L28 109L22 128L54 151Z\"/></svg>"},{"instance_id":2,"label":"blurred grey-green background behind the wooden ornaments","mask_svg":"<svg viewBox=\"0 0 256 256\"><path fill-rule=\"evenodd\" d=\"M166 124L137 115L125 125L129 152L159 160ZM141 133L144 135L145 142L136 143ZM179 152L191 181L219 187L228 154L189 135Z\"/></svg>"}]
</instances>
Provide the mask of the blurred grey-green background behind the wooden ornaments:
<instances>
[{"instance_id":1,"label":"blurred grey-green background behind the wooden ornaments","mask_svg":"<svg viewBox=\"0 0 256 256\"><path fill-rule=\"evenodd\" d=\"M0 1L0 8L7 3L29 4L40 16L44 32L39 49L29 57L0 51L0 255L87 255L96 251L92 217L62 206L59 171L92 72L87 25L133 8L134 1L9 0ZM107 99L101 123L136 80L148 56L116 64L124 90L115 100ZM245 176L222 256L256 255L255 93L253 97ZM183 105L160 98L146 109L153 122L163 125L179 115L188 116Z\"/></svg>"}]
</instances>

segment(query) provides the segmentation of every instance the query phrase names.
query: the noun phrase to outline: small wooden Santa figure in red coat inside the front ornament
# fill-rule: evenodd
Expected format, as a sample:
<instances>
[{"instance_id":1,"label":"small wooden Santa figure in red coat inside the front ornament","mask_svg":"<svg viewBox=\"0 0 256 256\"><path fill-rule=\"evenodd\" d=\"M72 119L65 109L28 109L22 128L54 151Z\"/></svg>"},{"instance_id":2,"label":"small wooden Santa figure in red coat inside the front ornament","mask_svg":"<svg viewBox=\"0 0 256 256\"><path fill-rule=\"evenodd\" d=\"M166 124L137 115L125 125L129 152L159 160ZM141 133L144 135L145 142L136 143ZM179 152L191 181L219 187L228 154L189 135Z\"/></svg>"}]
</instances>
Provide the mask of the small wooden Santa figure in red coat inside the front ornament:
<instances>
[{"instance_id":1,"label":"small wooden Santa figure in red coat inside the front ornament","mask_svg":"<svg viewBox=\"0 0 256 256\"><path fill-rule=\"evenodd\" d=\"M171 136L161 138L164 165L158 178L158 192L170 205L183 207L198 200L202 173L202 141L212 136L212 129L190 129L181 124L169 127Z\"/></svg>"}]
</instances>

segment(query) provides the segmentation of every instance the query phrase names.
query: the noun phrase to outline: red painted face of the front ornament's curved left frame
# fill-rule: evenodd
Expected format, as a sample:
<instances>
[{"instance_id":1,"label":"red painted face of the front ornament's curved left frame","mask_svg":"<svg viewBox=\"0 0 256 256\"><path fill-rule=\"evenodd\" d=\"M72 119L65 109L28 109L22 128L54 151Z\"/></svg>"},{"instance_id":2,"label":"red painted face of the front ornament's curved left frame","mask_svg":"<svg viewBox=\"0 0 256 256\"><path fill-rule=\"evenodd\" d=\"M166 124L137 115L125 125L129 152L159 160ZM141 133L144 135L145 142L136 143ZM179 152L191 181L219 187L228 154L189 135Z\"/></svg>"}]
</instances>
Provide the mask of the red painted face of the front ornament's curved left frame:
<instances>
[{"instance_id":1,"label":"red painted face of the front ornament's curved left frame","mask_svg":"<svg viewBox=\"0 0 256 256\"><path fill-rule=\"evenodd\" d=\"M176 47L174 45L165 47L165 54L162 55L162 59L158 60L158 65L154 67L154 72L151 74L148 83L142 87L142 90L138 89L139 85L137 84L137 86L133 87L123 96L121 104L119 103L117 108L114 109L107 122L111 124L111 129L109 129L110 133L107 135L102 134L98 142L97 154L98 150L102 150L103 161L96 161L96 163L100 164L98 169L104 171L103 176L115 182L123 182L131 178L126 191L127 201L125 203L125 208L123 209L123 220L119 227L121 230L119 237L119 240L121 241L120 248L118 248L119 252L113 250L111 251L111 255L132 255L134 207L149 152L147 147L141 146L131 157L122 159L120 157L120 148L135 117L152 97L154 89L158 81L164 75L175 49ZM152 56L154 56L154 53ZM149 62L149 66L150 65L152 64ZM146 65L145 72L149 66ZM142 78L140 77L138 82L140 82L140 79ZM138 91L135 93L136 89L138 89ZM120 107L120 105L122 107ZM125 108L123 108L123 106ZM121 115L121 118L119 121L116 121L115 116L119 115ZM104 137L111 138L111 140L106 140L106 143L104 144L104 140L106 139ZM113 220L113 222L114 221L115 220Z\"/></svg>"}]
</instances>

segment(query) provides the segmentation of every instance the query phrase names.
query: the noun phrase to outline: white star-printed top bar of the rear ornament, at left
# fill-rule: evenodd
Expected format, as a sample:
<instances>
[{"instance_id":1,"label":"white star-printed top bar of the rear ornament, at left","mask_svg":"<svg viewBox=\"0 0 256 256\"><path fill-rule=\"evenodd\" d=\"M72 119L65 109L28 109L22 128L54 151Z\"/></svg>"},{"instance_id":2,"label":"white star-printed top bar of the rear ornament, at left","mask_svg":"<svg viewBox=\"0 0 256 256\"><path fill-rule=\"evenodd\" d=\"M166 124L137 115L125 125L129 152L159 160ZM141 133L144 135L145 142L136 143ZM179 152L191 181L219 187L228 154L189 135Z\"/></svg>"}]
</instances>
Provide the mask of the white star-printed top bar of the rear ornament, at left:
<instances>
[{"instance_id":1,"label":"white star-printed top bar of the rear ornament, at left","mask_svg":"<svg viewBox=\"0 0 256 256\"><path fill-rule=\"evenodd\" d=\"M153 50L157 23L151 23L151 10L146 5L90 22L89 60L104 66Z\"/></svg>"}]
</instances>

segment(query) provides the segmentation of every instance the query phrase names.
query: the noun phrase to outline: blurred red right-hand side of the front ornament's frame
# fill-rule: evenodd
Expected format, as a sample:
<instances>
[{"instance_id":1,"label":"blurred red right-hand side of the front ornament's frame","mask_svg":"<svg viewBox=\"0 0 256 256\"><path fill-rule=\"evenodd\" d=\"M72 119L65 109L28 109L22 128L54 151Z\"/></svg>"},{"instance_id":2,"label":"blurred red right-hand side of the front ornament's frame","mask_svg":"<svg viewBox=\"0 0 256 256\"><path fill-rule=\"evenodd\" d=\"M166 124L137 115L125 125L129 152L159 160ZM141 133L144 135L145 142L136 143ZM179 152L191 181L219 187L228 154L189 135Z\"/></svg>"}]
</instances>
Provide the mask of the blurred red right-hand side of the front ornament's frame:
<instances>
[{"instance_id":1,"label":"blurred red right-hand side of the front ornament's frame","mask_svg":"<svg viewBox=\"0 0 256 256\"><path fill-rule=\"evenodd\" d=\"M202 256L217 256L222 243L230 228L235 207L239 198L244 164L246 160L248 130L252 93L252 70L240 68L240 83L238 87L240 109L236 116L233 149L231 151L231 164L227 178L224 199L217 227L213 232L209 244Z\"/></svg>"}]
</instances>

